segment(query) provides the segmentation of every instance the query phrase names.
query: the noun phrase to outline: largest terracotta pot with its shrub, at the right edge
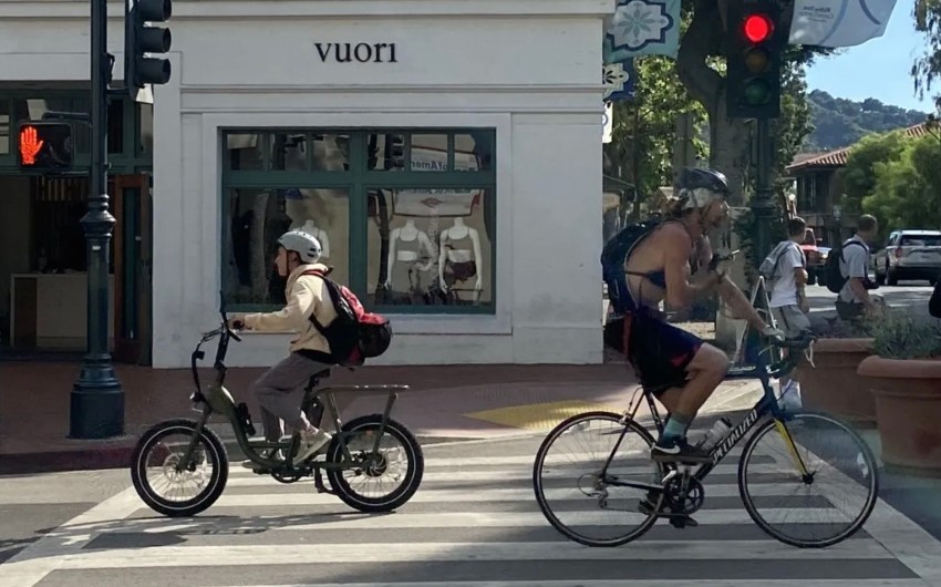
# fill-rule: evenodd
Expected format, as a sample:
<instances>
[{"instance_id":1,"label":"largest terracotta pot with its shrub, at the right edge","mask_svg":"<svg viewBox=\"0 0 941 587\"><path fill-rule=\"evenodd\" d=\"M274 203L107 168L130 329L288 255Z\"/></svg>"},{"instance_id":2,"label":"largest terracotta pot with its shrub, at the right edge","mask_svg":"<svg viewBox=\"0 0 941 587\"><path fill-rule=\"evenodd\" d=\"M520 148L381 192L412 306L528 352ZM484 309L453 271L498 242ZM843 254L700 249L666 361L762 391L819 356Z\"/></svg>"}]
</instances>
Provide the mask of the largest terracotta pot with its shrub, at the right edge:
<instances>
[{"instance_id":1,"label":"largest terracotta pot with its shrub, at the right edge","mask_svg":"<svg viewBox=\"0 0 941 587\"><path fill-rule=\"evenodd\" d=\"M941 325L889 316L858 373L873 398L882 461L941 473Z\"/></svg>"}]
</instances>

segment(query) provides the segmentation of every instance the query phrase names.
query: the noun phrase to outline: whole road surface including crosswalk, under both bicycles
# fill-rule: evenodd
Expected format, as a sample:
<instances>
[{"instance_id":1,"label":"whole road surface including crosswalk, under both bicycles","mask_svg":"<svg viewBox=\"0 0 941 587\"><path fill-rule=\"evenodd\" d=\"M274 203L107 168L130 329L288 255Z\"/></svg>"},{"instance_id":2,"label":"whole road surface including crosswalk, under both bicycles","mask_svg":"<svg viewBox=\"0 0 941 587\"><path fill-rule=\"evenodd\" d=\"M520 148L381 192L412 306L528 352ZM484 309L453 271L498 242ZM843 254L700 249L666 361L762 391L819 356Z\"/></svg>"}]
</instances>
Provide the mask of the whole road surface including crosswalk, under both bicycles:
<instances>
[{"instance_id":1,"label":"whole road surface including crosswalk, under both bicycles","mask_svg":"<svg viewBox=\"0 0 941 587\"><path fill-rule=\"evenodd\" d=\"M126 471L0 478L0 536L8 550L20 549L0 565L0 586L941 585L941 543L881 502L862 532L826 549L769 538L737 494L741 445L707 478L699 527L661 521L625 546L583 547L556 532L535 503L531 466L542 435L426 446L422 488L387 515L354 513L310 483L279 484L237 463L219 502L188 519L145 508L125 490ZM597 504L571 488L575 478L551 483L552 493L569 492L569 514ZM795 507L795 491L783 483L756 487L785 513ZM618 514L609 513L606 523L616 523ZM39 529L42 538L29 542Z\"/></svg>"}]
</instances>

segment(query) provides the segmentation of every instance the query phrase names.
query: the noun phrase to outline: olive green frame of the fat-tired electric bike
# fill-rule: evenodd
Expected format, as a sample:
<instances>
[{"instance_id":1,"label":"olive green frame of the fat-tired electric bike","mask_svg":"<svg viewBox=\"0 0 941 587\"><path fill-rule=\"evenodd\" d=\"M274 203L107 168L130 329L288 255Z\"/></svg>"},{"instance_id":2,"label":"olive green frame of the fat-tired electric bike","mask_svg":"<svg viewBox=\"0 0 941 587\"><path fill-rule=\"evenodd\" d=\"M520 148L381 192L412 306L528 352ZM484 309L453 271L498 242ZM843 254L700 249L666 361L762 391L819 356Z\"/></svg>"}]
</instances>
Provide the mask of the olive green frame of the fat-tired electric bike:
<instances>
[{"instance_id":1,"label":"olive green frame of the fat-tired electric bike","mask_svg":"<svg viewBox=\"0 0 941 587\"><path fill-rule=\"evenodd\" d=\"M196 430L194 431L193 437L190 439L182 459L176 465L176 468L178 471L183 471L189 466L189 462L193 456L193 451L196 447L196 444L199 440L199 435L201 434L206 423L209 421L209 418L214 413L221 414L231 425L236 436L236 442L238 443L245 455L257 465L268 468L272 472L281 472L287 474L309 474L310 472L319 471L320 468L332 470L361 466L362 463L360 461L353 461L353 457L350 454L349 446L347 445L347 436L352 435L353 433L342 431L342 422L340 421L340 413L337 409L337 402L334 398L334 393L338 392L359 394L385 393L387 395L387 401L385 403L385 409L382 414L382 422L380 424L379 434L376 434L375 443L372 449L372 454L379 453L379 444L383 437L383 434L385 433L385 426L389 421L389 414L392 411L392 405L399 398L397 392L409 390L409 385L343 385L327 387L321 388L319 390L314 390L314 388L319 384L321 374L311 378L310 383L304 388L304 397L299 409L303 410L304 413L309 413L311 408L318 402L320 402L321 399L325 400L325 402L323 403L325 403L325 406L330 410L333 424L337 428L337 437L340 442L340 447L342 450L343 455L342 462L314 461L310 463L304 463L300 466L296 465L292 462L292 455L297 449L297 444L300 442L298 433L294 433L289 442L269 442L266 440L250 441L249 434L255 434L255 426L251 424L251 421L248 418L247 406L245 403L236 404L231 393L225 387L226 373L228 370L225 364L225 359L228 352L229 341L230 339L241 341L241 338L239 338L239 336L236 334L228 327L228 318L226 316L225 310L221 310L220 315L221 326L210 332L204 333L190 357L190 370L193 372L193 380L196 385L196 391L190 394L189 400L194 404L193 410L199 413L200 418L197 421ZM201 350L203 344L217 337L219 341L216 349L216 357L213 363L215 377L204 390L199 380L197 362L203 360L206 356L205 351ZM283 450L286 453L285 461L276 460L273 457L261 456L260 451L265 449Z\"/></svg>"}]
</instances>

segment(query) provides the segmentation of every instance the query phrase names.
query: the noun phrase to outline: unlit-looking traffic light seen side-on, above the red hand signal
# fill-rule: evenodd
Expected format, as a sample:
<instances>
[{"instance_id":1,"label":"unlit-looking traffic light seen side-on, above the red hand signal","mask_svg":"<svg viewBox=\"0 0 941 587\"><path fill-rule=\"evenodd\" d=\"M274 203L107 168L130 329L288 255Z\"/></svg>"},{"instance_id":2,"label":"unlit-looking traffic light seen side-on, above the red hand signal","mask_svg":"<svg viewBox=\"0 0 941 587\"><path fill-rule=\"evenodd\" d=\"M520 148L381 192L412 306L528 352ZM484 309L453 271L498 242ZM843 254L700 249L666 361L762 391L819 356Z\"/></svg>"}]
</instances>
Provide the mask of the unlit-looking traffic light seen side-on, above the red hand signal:
<instances>
[{"instance_id":1,"label":"unlit-looking traffic light seen side-on, above the red hand signal","mask_svg":"<svg viewBox=\"0 0 941 587\"><path fill-rule=\"evenodd\" d=\"M152 23L167 22L172 0L127 0L124 4L124 85L132 99L151 84L169 81L170 63L152 53L166 53L172 44L169 29Z\"/></svg>"}]
</instances>

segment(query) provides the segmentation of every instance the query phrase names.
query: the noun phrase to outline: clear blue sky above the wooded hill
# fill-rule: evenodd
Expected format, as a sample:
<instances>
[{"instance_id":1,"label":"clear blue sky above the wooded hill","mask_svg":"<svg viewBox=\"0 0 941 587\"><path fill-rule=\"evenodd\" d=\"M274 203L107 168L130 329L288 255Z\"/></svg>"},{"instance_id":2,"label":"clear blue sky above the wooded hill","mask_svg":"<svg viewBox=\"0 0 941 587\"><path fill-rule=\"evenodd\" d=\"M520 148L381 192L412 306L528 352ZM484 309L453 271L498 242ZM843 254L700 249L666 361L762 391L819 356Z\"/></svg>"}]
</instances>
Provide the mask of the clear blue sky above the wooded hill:
<instances>
[{"instance_id":1,"label":"clear blue sky above the wooded hill","mask_svg":"<svg viewBox=\"0 0 941 587\"><path fill-rule=\"evenodd\" d=\"M857 102L875 97L885 104L933 111L931 100L916 97L909 75L914 59L926 45L924 37L914 31L913 6L914 0L897 0L882 37L841 49L835 56L818 59L807 71L808 87Z\"/></svg>"}]
</instances>

